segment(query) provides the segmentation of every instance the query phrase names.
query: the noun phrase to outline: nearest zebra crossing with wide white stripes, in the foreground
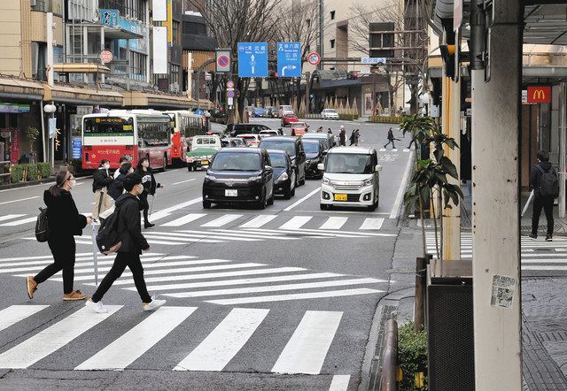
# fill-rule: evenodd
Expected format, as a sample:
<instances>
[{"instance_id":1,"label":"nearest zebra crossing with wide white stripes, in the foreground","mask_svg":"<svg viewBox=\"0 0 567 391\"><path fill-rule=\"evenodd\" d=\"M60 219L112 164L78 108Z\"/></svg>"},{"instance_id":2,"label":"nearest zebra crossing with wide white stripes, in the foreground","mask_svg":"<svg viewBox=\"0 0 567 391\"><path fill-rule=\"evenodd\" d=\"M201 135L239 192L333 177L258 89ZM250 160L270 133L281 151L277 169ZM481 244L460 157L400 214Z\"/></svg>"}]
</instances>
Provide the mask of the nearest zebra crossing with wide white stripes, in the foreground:
<instances>
[{"instance_id":1,"label":"nearest zebra crossing with wide white stripes, in the foreground","mask_svg":"<svg viewBox=\"0 0 567 391\"><path fill-rule=\"evenodd\" d=\"M284 313L269 309L210 311L195 306L164 306L147 316L141 311L133 317L122 305L107 305L108 313L104 314L78 306L79 310L66 311L42 326L49 307L12 305L0 311L0 338L11 328L30 328L18 341L0 350L0 368L42 367L41 361L58 355L59 350L88 343L81 342L88 334L89 338L104 342L89 344L96 347L96 351L88 349L89 357L78 351L79 357L66 360L58 369L121 371L144 355L166 349L167 357L178 357L169 364L170 371L221 372L237 362L243 349L258 349L264 351L255 356L258 362L253 366L265 372L319 374L338 334L349 333L346 326L341 328L342 311L304 311L291 317L291 326L280 326L282 330L277 330L282 325L277 323L278 317ZM124 316L128 321L124 321ZM210 323L206 333L191 333L191 327L202 318ZM24 321L27 323L22 325ZM108 330L112 330L111 340L105 335ZM264 341L269 335L274 336L274 341ZM268 357L266 346L269 346Z\"/></svg>"}]
</instances>

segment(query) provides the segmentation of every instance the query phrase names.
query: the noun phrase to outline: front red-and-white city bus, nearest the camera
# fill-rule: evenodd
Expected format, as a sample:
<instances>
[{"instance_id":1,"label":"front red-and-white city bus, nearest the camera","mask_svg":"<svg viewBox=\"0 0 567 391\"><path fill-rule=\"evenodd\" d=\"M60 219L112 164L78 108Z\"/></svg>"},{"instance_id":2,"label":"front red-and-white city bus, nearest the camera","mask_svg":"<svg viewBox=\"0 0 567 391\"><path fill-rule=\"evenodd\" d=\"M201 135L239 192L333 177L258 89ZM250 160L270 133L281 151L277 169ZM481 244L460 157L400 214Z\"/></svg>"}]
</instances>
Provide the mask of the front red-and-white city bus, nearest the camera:
<instances>
[{"instance_id":1,"label":"front red-and-white city bus, nearest the camera","mask_svg":"<svg viewBox=\"0 0 567 391\"><path fill-rule=\"evenodd\" d=\"M108 111L82 118L82 168L97 169L102 159L111 168L119 167L120 157L137 165L142 157L151 168L165 170L171 163L171 119L155 112Z\"/></svg>"}]
</instances>

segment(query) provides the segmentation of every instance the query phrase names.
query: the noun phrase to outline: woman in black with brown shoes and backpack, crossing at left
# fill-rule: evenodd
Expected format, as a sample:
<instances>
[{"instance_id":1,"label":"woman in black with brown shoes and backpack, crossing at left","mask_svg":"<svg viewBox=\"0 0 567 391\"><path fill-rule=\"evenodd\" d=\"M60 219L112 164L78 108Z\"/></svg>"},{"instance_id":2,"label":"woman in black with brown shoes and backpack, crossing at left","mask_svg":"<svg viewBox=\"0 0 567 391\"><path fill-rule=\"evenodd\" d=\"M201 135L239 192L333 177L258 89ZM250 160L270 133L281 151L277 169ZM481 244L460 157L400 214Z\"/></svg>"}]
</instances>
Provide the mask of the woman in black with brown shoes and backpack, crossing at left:
<instances>
[{"instance_id":1,"label":"woman in black with brown shoes and backpack, crossing at left","mask_svg":"<svg viewBox=\"0 0 567 391\"><path fill-rule=\"evenodd\" d=\"M47 243L53 254L53 264L47 265L35 276L27 276L27 296L34 298L37 286L53 274L63 271L63 300L83 300L86 296L73 289L75 242L74 235L81 235L82 228L92 224L92 219L79 213L71 196L75 185L72 173L61 171L57 174L55 185L43 192L43 202L47 205L50 235Z\"/></svg>"}]
</instances>

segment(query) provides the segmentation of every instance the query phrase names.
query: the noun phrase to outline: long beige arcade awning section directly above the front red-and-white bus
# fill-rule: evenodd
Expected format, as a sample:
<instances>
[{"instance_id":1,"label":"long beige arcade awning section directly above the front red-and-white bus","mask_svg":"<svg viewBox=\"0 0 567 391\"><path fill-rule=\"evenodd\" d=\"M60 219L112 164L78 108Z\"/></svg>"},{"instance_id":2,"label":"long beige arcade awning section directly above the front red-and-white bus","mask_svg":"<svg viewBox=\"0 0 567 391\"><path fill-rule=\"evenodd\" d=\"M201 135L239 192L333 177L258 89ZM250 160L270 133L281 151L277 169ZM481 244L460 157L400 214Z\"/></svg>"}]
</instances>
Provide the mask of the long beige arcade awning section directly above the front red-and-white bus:
<instances>
[{"instance_id":1,"label":"long beige arcade awning section directly above the front red-and-white bus","mask_svg":"<svg viewBox=\"0 0 567 391\"><path fill-rule=\"evenodd\" d=\"M85 104L85 105L101 105L120 107L124 102L124 96L116 91L107 89L81 88L78 86L70 86L56 84L50 88L45 84L43 99L46 101L54 101L56 103L67 104Z\"/></svg>"}]
</instances>

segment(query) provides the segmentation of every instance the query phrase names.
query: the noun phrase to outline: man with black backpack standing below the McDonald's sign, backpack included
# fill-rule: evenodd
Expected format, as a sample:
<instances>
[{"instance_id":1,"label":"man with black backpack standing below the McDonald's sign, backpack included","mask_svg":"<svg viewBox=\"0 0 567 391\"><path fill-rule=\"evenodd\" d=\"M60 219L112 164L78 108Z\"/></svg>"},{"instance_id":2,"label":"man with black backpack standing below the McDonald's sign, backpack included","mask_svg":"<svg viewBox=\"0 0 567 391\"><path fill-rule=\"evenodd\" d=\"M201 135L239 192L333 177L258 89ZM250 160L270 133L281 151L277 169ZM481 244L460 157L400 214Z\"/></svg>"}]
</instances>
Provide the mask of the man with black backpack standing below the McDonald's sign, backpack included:
<instances>
[{"instance_id":1,"label":"man with black backpack standing below the McDonald's sign, backpack included","mask_svg":"<svg viewBox=\"0 0 567 391\"><path fill-rule=\"evenodd\" d=\"M538 164L532 166L530 172L530 189L533 190L533 214L532 214L532 234L530 238L538 238L538 226L540 226L541 209L546 213L548 219L548 234L546 241L553 240L553 203L559 196L559 179L555 168L549 163L549 152L540 150L538 152Z\"/></svg>"}]
</instances>

